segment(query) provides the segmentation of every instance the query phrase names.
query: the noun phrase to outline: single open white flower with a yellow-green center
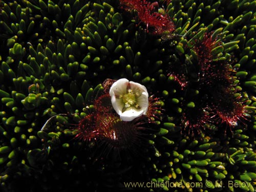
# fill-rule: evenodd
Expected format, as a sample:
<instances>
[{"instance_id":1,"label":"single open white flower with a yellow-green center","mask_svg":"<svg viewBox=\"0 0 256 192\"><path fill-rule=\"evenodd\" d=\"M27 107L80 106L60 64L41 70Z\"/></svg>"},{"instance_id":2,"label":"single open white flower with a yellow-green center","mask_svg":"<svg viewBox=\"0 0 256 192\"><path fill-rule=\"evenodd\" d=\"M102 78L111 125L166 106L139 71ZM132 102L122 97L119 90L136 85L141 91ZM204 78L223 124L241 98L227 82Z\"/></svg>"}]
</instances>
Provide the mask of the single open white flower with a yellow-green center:
<instances>
[{"instance_id":1,"label":"single open white flower with a yellow-green center","mask_svg":"<svg viewBox=\"0 0 256 192\"><path fill-rule=\"evenodd\" d=\"M111 86L110 97L114 110L123 121L132 121L147 112L148 93L139 83L119 79Z\"/></svg>"}]
</instances>

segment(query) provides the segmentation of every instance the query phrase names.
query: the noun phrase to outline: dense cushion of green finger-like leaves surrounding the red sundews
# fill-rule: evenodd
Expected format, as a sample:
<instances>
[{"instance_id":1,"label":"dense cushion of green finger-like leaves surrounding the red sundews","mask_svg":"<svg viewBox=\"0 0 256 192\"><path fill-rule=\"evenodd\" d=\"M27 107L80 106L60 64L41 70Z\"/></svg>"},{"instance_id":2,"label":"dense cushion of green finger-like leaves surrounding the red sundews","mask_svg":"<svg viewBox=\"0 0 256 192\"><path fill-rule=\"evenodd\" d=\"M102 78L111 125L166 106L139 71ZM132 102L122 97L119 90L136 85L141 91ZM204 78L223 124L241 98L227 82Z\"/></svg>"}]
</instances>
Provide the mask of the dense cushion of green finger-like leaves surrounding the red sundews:
<instances>
[{"instance_id":1,"label":"dense cushion of green finger-like leaves surrounding the red sundews","mask_svg":"<svg viewBox=\"0 0 256 192\"><path fill-rule=\"evenodd\" d=\"M146 191L256 189L256 1L173 0L166 12L177 36L167 40L147 33L115 0L0 2L1 191L122 191L132 181L203 183L134 188ZM247 120L205 124L191 137L183 113L197 115L202 102L193 45L211 31L221 43L216 58L236 70L232 88ZM186 93L169 75L177 68L195 84ZM161 100L161 118L146 127L135 153L104 156L97 142L74 139L107 78L139 82Z\"/></svg>"}]
</instances>

